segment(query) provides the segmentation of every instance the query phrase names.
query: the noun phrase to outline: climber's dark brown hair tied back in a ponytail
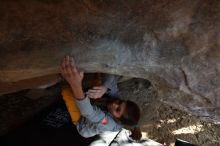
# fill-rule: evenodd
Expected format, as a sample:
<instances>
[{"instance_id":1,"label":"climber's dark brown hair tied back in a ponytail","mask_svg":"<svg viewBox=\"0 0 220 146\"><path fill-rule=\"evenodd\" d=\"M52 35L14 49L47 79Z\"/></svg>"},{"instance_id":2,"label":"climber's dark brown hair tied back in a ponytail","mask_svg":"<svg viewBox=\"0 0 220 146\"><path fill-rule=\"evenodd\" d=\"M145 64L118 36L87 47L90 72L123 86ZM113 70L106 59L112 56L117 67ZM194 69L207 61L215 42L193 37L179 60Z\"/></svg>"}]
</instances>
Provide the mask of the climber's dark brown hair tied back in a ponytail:
<instances>
[{"instance_id":1,"label":"climber's dark brown hair tied back in a ponytail","mask_svg":"<svg viewBox=\"0 0 220 146\"><path fill-rule=\"evenodd\" d=\"M141 130L139 127L139 119L140 119L140 108L138 105L130 100L126 101L126 109L123 116L119 119L121 123L125 126L128 126L131 130L131 135L134 140L140 140L142 137Z\"/></svg>"}]
</instances>

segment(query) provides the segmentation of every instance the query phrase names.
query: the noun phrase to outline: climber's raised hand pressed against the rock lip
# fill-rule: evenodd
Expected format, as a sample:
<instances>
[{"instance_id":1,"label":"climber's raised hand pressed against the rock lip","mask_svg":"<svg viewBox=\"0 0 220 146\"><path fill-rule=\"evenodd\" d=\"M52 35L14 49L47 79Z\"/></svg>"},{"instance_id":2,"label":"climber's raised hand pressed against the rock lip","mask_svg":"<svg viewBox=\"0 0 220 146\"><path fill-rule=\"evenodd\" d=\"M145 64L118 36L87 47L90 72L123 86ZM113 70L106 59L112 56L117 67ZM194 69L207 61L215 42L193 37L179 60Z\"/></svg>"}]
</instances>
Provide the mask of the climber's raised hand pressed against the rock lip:
<instances>
[{"instance_id":1,"label":"climber's raised hand pressed against the rock lip","mask_svg":"<svg viewBox=\"0 0 220 146\"><path fill-rule=\"evenodd\" d=\"M60 71L63 78L72 88L80 88L82 86L83 72L80 72L76 68L72 57L66 56L63 59L60 65Z\"/></svg>"}]
</instances>

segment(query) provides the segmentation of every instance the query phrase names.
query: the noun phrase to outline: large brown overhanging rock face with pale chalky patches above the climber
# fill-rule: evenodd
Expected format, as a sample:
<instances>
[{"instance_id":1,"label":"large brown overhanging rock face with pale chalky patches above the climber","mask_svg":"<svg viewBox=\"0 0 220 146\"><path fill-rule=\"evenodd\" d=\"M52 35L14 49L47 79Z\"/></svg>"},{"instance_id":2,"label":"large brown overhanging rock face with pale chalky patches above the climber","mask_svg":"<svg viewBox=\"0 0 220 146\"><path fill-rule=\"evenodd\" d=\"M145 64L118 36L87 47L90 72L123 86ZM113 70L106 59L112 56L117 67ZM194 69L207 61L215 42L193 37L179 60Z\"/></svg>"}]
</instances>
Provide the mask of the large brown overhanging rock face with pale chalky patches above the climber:
<instances>
[{"instance_id":1,"label":"large brown overhanging rock face with pale chalky patches above the climber","mask_svg":"<svg viewBox=\"0 0 220 146\"><path fill-rule=\"evenodd\" d=\"M68 54L86 72L148 79L162 101L220 122L218 0L0 1L0 38L1 84L59 73Z\"/></svg>"}]
</instances>

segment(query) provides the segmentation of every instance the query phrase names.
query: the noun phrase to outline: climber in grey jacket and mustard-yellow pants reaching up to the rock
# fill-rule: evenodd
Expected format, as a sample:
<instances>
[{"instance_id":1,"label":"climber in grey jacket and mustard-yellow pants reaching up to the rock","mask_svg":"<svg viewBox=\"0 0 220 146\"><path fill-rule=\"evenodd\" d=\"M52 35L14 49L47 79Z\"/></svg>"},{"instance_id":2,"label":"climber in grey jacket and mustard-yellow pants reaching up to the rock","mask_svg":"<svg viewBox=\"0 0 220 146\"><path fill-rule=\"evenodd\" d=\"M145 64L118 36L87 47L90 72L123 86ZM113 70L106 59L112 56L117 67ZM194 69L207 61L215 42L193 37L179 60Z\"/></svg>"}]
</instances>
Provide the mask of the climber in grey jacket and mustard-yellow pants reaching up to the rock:
<instances>
[{"instance_id":1,"label":"climber in grey jacket and mustard-yellow pants reaching up to the rock","mask_svg":"<svg viewBox=\"0 0 220 146\"><path fill-rule=\"evenodd\" d=\"M123 127L131 130L130 137L134 140L141 138L138 126L140 109L136 103L119 98L109 98L106 110L91 104L92 99L101 97L111 87L95 86L84 93L82 80L84 73L80 72L73 58L66 56L60 71L69 87L62 89L62 96L70 113L72 122L76 125L79 134L83 137L92 137L105 131L120 131ZM106 84L107 85L107 84Z\"/></svg>"}]
</instances>

